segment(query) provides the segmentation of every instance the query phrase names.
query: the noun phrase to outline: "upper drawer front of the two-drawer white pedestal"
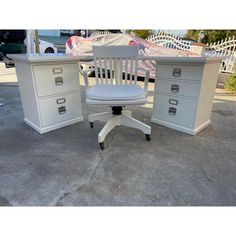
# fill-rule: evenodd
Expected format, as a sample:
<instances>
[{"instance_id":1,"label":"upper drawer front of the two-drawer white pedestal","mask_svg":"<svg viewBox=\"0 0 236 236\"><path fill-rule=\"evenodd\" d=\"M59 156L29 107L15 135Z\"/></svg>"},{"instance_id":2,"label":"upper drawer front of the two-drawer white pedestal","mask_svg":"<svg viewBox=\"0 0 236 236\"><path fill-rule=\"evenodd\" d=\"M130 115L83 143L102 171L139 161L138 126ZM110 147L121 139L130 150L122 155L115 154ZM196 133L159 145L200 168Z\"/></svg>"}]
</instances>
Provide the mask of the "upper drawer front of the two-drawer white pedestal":
<instances>
[{"instance_id":1,"label":"upper drawer front of the two-drawer white pedestal","mask_svg":"<svg viewBox=\"0 0 236 236\"><path fill-rule=\"evenodd\" d=\"M79 89L76 64L33 66L39 97Z\"/></svg>"}]
</instances>

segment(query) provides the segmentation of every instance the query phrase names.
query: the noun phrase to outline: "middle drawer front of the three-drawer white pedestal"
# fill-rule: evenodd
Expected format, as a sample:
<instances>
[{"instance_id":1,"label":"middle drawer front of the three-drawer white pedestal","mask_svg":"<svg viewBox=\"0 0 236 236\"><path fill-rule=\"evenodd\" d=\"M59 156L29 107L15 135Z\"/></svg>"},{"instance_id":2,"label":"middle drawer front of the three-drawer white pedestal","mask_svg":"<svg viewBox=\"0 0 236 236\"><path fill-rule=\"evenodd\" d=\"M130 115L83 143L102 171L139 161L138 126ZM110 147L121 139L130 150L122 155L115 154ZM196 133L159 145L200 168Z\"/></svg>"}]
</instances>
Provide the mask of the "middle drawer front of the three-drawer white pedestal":
<instances>
[{"instance_id":1,"label":"middle drawer front of the three-drawer white pedestal","mask_svg":"<svg viewBox=\"0 0 236 236\"><path fill-rule=\"evenodd\" d=\"M200 84L188 83L183 81L173 81L168 79L158 79L157 92L158 93L170 93L173 95L198 97Z\"/></svg>"}]
</instances>

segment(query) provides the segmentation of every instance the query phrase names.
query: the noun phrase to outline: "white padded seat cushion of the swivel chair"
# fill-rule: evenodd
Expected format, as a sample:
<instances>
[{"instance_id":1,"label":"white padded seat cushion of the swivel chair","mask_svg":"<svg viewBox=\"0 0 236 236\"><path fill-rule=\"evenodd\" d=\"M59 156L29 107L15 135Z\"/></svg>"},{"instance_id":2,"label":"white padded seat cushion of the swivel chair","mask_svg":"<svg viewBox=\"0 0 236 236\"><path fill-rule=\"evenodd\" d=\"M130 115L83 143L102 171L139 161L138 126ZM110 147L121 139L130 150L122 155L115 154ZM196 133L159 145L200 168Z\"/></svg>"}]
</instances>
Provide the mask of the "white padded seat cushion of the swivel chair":
<instances>
[{"instance_id":1,"label":"white padded seat cushion of the swivel chair","mask_svg":"<svg viewBox=\"0 0 236 236\"><path fill-rule=\"evenodd\" d=\"M145 99L146 94L144 89L137 84L97 84L87 90L87 98L102 101L127 101Z\"/></svg>"}]
</instances>

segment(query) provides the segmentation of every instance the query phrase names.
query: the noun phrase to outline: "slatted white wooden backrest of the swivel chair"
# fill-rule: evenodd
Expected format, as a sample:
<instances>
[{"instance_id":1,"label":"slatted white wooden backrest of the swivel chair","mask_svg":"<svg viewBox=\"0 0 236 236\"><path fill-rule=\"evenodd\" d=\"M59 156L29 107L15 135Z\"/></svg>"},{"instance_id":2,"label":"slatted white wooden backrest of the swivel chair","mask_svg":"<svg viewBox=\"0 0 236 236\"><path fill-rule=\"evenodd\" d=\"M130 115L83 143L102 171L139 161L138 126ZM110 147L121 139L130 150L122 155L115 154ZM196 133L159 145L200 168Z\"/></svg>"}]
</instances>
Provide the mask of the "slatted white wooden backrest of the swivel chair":
<instances>
[{"instance_id":1,"label":"slatted white wooden backrest of the swivel chair","mask_svg":"<svg viewBox=\"0 0 236 236\"><path fill-rule=\"evenodd\" d=\"M139 46L93 46L97 84L136 84Z\"/></svg>"}]
</instances>

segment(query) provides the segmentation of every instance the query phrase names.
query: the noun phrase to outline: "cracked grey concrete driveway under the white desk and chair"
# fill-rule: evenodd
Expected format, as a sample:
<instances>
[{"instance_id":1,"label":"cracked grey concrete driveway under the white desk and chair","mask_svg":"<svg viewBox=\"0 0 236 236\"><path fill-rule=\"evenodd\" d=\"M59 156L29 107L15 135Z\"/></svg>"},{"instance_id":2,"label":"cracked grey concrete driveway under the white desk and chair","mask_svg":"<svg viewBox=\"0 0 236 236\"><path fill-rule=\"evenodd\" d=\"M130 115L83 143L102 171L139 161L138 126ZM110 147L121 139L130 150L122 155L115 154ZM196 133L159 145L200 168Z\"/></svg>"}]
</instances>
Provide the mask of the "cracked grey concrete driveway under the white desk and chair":
<instances>
[{"instance_id":1,"label":"cracked grey concrete driveway under the white desk and chair","mask_svg":"<svg viewBox=\"0 0 236 236\"><path fill-rule=\"evenodd\" d=\"M217 89L212 124L190 136L150 123L149 103L134 117L151 125L152 140L132 128L113 130L101 151L84 122L40 135L23 122L14 69L0 63L0 205L236 205L236 97Z\"/></svg>"}]
</instances>

